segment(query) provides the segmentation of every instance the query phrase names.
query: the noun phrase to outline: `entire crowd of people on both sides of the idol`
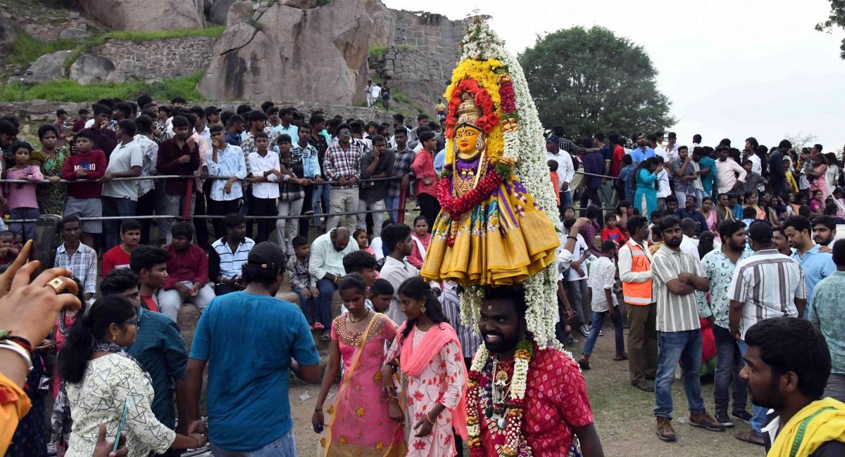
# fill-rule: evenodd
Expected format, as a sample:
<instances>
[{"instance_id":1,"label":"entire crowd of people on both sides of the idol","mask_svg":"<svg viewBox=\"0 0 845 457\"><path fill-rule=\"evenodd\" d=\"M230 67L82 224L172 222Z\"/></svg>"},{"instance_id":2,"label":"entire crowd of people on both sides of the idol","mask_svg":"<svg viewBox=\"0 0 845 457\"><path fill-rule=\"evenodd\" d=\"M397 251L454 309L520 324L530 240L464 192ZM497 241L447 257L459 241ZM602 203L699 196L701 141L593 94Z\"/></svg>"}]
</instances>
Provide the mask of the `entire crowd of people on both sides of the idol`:
<instances>
[{"instance_id":1,"label":"entire crowd of people on both sides of the idol","mask_svg":"<svg viewBox=\"0 0 845 457\"><path fill-rule=\"evenodd\" d=\"M590 369L605 320L613 360L627 360L630 383L654 392L658 438L677 439L680 365L691 426L724 431L741 420L751 430L736 437L770 452L793 443L816 457L845 452L834 433L845 416L845 242L833 242L845 178L820 145L796 153L784 140L770 151L748 138L743 155L696 135L690 151L657 132L631 137L629 149L616 132L573 142L555 127L546 145L564 227L557 339L575 347L577 333L586 338L575 362L526 335L521 287L489 288L472 329L461 322L459 286L419 276L440 209L439 123L319 112L306 121L270 102L237 112L185 105L103 99L69 128L59 110L38 129L38 150L17 140L14 117L0 118L8 322L19 319L13 295L35 293L26 282L3 289L35 268L24 265L33 220L63 215L56 268L32 283L39 299L57 294L30 320L37 331L10 325L0 335L9 349L0 358L16 363L14 375L3 365L17 412L4 403L3 413L20 418L14 438L3 428L12 455L46 454L47 443L60 455L106 455L105 431L113 438L118 424L123 454L210 444L218 456L296 455L292 373L322 382L312 425L327 455L453 455L466 443L481 455L505 446L600 456L579 368ZM412 223L396 223L403 199L416 201ZM152 215L163 217L144 218ZM73 280L44 286L54 277ZM275 298L283 284L298 306ZM185 322L180 310L191 305L199 320ZM196 326L187 349L186 325ZM322 375L315 339L329 348ZM472 366L479 347L505 378L530 360L524 405L502 403L495 373L482 386L489 403L467 402L486 373ZM714 378L713 415L702 374ZM51 427L44 414L21 417L27 402L35 411L41 401L43 413L46 395ZM526 411L524 443L487 415L513 407ZM809 428L795 425L807 417ZM480 443L467 426L479 427Z\"/></svg>"}]
</instances>

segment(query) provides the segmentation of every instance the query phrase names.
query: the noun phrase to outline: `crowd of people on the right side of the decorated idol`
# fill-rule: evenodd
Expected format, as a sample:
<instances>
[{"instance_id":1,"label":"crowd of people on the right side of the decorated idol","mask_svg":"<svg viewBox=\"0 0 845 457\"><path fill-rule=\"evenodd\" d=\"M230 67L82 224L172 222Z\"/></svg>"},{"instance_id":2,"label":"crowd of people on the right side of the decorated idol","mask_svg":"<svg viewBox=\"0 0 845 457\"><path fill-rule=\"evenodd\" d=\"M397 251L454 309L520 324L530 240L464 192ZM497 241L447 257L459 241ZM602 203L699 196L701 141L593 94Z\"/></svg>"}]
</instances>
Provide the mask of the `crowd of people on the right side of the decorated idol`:
<instances>
[{"instance_id":1,"label":"crowd of people on the right side of the decorated idol","mask_svg":"<svg viewBox=\"0 0 845 457\"><path fill-rule=\"evenodd\" d=\"M777 383L764 393L753 382L761 364L760 352L752 355L760 344L749 337L753 330L764 324L771 331L791 326L781 335L799 338L800 345L826 341L812 350L800 346L807 352L790 347L784 352L794 359L778 357L781 367L768 369L776 379L785 373L778 370L794 369L805 354L829 352L807 363L803 373L795 372L804 383L798 390L810 400L845 401L845 302L837 296L845 241L834 243L837 224L845 222L841 157L823 153L820 144L796 152L788 140L769 149L749 137L740 152L729 139L710 148L695 135L690 150L672 132L668 142L663 137L663 132L638 133L631 137L632 149L616 132L580 143L559 135L547 138L564 229L575 239L574 261L561 273L559 286L565 291L561 320L570 317L574 325L561 329L561 340L572 343L571 329L581 331L586 342L579 363L589 369L602 322L612 320L613 360L629 360L631 384L654 392L662 440L677 439L672 383L680 364L690 425L724 431L735 421L749 422L751 429L735 437L771 448L777 434L771 424L782 425L788 417L778 411L782 397L765 396L777 394L771 391ZM574 190L570 184L577 169L583 179ZM587 229L573 227L573 196L580 198ZM593 242L598 233L600 248ZM757 336L756 341L775 344L777 338ZM768 353L771 365L775 359ZM702 376L714 380L715 416L701 398ZM747 410L749 392L753 414ZM841 403L835 405L842 411ZM770 408L777 414L767 417ZM778 414L781 422L773 418ZM812 455L842 452L845 444L837 438Z\"/></svg>"}]
</instances>

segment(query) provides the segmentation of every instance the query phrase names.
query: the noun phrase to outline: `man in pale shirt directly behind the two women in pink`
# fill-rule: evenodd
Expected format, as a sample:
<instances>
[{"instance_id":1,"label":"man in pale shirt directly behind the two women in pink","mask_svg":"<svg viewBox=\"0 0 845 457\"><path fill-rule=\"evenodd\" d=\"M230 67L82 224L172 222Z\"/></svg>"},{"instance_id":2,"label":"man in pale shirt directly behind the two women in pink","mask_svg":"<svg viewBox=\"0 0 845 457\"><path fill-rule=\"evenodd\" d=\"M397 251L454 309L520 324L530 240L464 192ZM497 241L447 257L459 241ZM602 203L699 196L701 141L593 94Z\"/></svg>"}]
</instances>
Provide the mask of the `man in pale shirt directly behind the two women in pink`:
<instances>
[{"instance_id":1,"label":"man in pale shirt directly behind the two women in pink","mask_svg":"<svg viewBox=\"0 0 845 457\"><path fill-rule=\"evenodd\" d=\"M402 305L399 303L399 286L407 278L419 276L417 268L406 261L406 256L411 255L413 248L411 228L404 223L390 224L381 231L381 239L390 254L384 257L384 266L381 267L379 277L390 282L395 291L393 299L390 300L387 317L396 325L401 325L407 320L407 316L402 312Z\"/></svg>"}]
</instances>

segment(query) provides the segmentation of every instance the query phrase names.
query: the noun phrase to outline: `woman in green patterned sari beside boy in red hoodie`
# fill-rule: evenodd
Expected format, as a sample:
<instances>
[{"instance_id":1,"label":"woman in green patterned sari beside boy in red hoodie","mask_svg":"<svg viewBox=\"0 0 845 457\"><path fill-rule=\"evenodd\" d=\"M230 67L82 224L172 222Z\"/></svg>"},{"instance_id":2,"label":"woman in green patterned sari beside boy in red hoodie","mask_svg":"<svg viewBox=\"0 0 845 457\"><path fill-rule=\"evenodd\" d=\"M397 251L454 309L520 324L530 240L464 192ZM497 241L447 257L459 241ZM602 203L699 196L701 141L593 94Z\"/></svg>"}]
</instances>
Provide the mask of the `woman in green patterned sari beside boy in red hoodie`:
<instances>
[{"instance_id":1,"label":"woman in green patterned sari beside boy in red hoodie","mask_svg":"<svg viewBox=\"0 0 845 457\"><path fill-rule=\"evenodd\" d=\"M30 154L30 165L38 165L44 180L50 182L37 187L39 211L41 214L62 216L64 201L68 198L68 186L58 181L62 179L62 166L65 159L68 159L70 150L66 146L56 148L56 137L56 129L53 126L41 126L38 129L41 150Z\"/></svg>"}]
</instances>

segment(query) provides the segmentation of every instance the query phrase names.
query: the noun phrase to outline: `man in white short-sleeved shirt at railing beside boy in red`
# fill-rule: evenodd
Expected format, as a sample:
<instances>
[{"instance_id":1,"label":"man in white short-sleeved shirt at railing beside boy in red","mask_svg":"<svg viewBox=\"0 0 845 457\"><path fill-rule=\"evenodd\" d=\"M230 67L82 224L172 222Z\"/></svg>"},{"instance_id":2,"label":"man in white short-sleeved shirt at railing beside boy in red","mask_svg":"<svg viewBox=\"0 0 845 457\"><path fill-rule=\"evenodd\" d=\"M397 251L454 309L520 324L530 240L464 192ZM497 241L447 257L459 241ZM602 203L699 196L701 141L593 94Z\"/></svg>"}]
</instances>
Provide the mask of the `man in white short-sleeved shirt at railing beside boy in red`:
<instances>
[{"instance_id":1,"label":"man in white short-sleeved shirt at railing beside boy in red","mask_svg":"<svg viewBox=\"0 0 845 457\"><path fill-rule=\"evenodd\" d=\"M144 152L139 142L135 140L138 127L135 121L124 119L117 123L117 148L109 156L106 174L100 178L103 183L102 207L103 216L134 217L138 205L138 186L131 180L115 178L129 178L141 175L144 164ZM118 230L120 219L106 220L106 246L116 246L120 243Z\"/></svg>"}]
</instances>

